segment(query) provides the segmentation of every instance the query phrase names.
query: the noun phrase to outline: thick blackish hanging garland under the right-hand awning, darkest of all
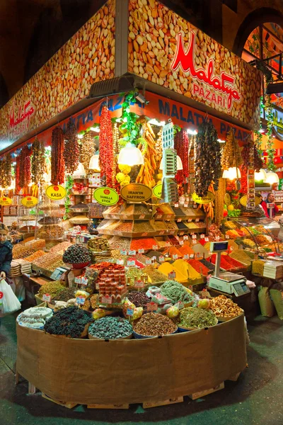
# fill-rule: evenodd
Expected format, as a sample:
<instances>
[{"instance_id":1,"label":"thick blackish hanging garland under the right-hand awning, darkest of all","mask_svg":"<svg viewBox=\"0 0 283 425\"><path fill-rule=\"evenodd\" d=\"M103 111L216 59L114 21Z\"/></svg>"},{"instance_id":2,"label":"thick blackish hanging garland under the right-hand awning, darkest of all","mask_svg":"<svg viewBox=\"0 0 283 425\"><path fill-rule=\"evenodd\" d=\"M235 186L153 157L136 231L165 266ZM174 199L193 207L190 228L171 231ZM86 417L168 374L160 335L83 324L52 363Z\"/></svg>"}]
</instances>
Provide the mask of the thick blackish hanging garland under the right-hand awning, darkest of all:
<instances>
[{"instance_id":1,"label":"thick blackish hanging garland under the right-hand awning, darkest of all","mask_svg":"<svg viewBox=\"0 0 283 425\"><path fill-rule=\"evenodd\" d=\"M195 192L206 196L210 183L218 189L221 177L221 150L214 125L207 120L200 125L195 141Z\"/></svg>"}]
</instances>

